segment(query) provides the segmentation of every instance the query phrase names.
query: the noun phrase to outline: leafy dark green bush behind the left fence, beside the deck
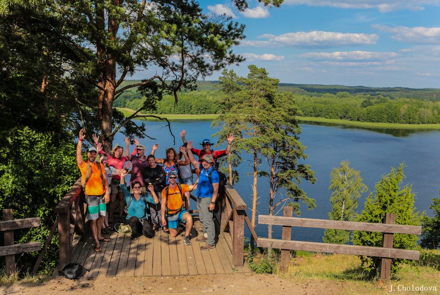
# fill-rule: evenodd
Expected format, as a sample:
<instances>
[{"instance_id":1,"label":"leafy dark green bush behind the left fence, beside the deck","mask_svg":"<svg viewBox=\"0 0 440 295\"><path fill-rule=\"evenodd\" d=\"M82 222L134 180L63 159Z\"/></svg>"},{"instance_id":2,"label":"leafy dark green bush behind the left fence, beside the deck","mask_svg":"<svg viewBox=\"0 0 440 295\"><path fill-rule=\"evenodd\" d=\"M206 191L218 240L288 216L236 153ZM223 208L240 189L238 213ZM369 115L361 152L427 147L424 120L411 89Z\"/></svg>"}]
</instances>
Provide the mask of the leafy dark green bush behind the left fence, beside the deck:
<instances>
[{"instance_id":1,"label":"leafy dark green bush behind the left fence, beside the deck","mask_svg":"<svg viewBox=\"0 0 440 295\"><path fill-rule=\"evenodd\" d=\"M14 218L40 217L41 227L14 231L16 243L42 242L49 235L56 204L78 179L74 146L55 142L49 133L28 127L13 129L0 149L0 208L13 209ZM23 253L19 267L32 268L38 252ZM41 268L58 262L58 237L54 236Z\"/></svg>"}]
</instances>

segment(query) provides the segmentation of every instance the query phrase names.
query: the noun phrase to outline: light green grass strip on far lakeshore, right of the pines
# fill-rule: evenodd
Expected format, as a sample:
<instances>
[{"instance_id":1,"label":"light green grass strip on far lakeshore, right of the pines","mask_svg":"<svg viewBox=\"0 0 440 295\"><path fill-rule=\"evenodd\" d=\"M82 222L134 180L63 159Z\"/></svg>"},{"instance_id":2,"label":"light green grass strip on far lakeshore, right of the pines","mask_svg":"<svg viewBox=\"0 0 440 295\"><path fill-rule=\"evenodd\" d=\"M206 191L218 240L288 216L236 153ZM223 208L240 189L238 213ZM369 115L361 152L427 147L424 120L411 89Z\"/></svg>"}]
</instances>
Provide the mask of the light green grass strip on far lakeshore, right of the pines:
<instances>
[{"instance_id":1,"label":"light green grass strip on far lakeshore, right of the pines","mask_svg":"<svg viewBox=\"0 0 440 295\"><path fill-rule=\"evenodd\" d=\"M363 128L379 128L379 129L431 129L440 130L440 124L394 124L394 123L374 123L374 122L358 122L341 119L327 119L315 117L297 117L300 122L318 122L341 124L347 126L357 126Z\"/></svg>"}]
</instances>

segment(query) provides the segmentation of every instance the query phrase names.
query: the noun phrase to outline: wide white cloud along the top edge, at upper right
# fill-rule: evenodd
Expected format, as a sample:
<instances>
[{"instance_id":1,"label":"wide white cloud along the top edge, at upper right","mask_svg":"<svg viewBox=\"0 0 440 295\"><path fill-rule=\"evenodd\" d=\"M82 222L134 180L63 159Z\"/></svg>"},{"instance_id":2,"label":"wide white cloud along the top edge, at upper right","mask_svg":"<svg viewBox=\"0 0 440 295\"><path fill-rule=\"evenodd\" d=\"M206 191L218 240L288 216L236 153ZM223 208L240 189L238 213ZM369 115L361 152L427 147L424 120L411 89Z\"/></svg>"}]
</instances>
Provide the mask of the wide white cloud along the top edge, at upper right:
<instances>
[{"instance_id":1,"label":"wide white cloud along the top edge, at upper right","mask_svg":"<svg viewBox=\"0 0 440 295\"><path fill-rule=\"evenodd\" d=\"M285 0L284 4L377 9L380 12L388 12L399 9L423 10L426 5L439 5L440 0Z\"/></svg>"}]
</instances>

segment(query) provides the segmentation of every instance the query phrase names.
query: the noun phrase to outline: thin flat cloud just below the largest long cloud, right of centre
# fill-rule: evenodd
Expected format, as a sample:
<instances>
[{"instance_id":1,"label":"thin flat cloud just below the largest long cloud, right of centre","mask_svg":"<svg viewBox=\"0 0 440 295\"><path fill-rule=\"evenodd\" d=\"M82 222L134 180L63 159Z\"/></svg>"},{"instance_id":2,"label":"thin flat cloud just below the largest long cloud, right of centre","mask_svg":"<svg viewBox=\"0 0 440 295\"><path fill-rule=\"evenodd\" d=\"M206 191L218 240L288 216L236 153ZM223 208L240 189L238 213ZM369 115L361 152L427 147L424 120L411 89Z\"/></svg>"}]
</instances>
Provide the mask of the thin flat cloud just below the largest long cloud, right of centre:
<instances>
[{"instance_id":1,"label":"thin flat cloud just below the largest long cloud, right of centre","mask_svg":"<svg viewBox=\"0 0 440 295\"><path fill-rule=\"evenodd\" d=\"M308 52L299 55L316 61L352 61L352 62L378 62L388 61L398 56L395 52L370 52L370 51L336 51L336 52Z\"/></svg>"}]
</instances>

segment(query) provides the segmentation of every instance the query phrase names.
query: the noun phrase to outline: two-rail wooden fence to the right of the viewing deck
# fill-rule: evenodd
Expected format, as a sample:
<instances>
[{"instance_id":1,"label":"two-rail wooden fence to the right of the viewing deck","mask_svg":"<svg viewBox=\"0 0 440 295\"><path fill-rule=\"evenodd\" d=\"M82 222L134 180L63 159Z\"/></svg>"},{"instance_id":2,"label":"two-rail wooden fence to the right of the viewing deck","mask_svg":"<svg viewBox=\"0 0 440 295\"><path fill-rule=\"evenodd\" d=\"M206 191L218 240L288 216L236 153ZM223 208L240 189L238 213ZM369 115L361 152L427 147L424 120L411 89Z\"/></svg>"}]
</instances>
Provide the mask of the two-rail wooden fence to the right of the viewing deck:
<instances>
[{"instance_id":1,"label":"two-rail wooden fence to the right of the viewing deck","mask_svg":"<svg viewBox=\"0 0 440 295\"><path fill-rule=\"evenodd\" d=\"M290 250L302 250L322 253L354 254L380 257L380 278L388 279L391 271L391 258L418 260L419 252L393 248L393 234L421 234L421 227L411 225L396 225L396 214L386 213L384 223L366 223L352 221L335 221L325 219L295 218L292 208L284 208L284 216L259 215L259 224L282 225L282 239L259 238L259 247L272 247L281 250L281 267L285 268L290 261ZM335 229L347 231L382 232L382 247L367 247L354 245L339 245L317 242L302 242L291 240L291 227L306 227L320 229Z\"/></svg>"}]
</instances>

